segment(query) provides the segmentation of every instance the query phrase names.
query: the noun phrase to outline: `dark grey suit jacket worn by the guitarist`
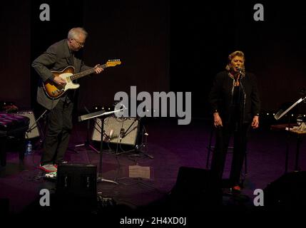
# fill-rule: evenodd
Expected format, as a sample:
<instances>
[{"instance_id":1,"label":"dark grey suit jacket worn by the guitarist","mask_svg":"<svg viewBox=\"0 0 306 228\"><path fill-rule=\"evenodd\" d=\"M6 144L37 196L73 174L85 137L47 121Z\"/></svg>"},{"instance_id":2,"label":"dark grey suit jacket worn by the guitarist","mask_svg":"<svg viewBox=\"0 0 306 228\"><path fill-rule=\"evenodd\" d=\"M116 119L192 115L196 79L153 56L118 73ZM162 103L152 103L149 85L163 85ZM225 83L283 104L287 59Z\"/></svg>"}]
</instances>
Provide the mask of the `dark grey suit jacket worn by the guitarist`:
<instances>
[{"instance_id":1,"label":"dark grey suit jacket worn by the guitarist","mask_svg":"<svg viewBox=\"0 0 306 228\"><path fill-rule=\"evenodd\" d=\"M41 81L37 89L37 102L43 105L45 108L51 110L58 103L59 98L49 98L43 87L43 82L46 80L53 81L54 76L51 71L63 71L67 66L74 66L75 72L86 71L91 68L86 66L81 58L77 56L73 57L74 64L71 62L71 52L68 48L67 39L63 39L51 45L41 56L36 58L32 66L39 73Z\"/></svg>"}]
</instances>

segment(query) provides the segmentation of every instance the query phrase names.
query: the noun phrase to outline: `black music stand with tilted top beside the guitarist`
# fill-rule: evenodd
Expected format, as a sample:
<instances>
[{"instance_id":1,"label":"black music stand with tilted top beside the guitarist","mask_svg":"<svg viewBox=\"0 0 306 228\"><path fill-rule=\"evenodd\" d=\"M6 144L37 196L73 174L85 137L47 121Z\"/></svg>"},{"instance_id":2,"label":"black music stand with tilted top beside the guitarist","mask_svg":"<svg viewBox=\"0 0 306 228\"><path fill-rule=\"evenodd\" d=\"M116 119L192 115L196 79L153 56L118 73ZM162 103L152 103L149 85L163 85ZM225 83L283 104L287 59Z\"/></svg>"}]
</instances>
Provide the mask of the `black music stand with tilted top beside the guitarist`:
<instances>
[{"instance_id":1,"label":"black music stand with tilted top beside the guitarist","mask_svg":"<svg viewBox=\"0 0 306 228\"><path fill-rule=\"evenodd\" d=\"M113 181L113 180L107 180L102 177L102 153L103 153L103 132L104 132L103 125L104 125L104 119L106 117L108 117L109 115L112 115L113 113L121 112L122 110L123 108L119 110L114 110L111 112L106 112L103 110L103 111L98 111L95 113L81 115L78 117L78 121L89 120L91 118L101 117L101 147L100 147L99 172L98 172L97 182L111 182L113 184L118 185L118 182Z\"/></svg>"}]
</instances>

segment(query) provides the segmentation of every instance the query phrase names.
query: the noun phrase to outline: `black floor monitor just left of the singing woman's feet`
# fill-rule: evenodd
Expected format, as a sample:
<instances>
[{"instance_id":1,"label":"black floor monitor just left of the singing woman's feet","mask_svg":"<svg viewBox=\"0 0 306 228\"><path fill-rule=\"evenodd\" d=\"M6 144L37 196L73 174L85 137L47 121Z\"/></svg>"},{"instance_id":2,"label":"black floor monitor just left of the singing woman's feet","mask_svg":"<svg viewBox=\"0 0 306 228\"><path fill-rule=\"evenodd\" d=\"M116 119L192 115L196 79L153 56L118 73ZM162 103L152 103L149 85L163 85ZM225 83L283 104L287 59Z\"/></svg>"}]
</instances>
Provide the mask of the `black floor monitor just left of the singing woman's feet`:
<instances>
[{"instance_id":1,"label":"black floor monitor just left of the singing woman's feet","mask_svg":"<svg viewBox=\"0 0 306 228\"><path fill-rule=\"evenodd\" d=\"M180 167L171 196L180 204L199 203L199 207L219 207L223 192L220 182L210 170L195 167Z\"/></svg>"}]
</instances>

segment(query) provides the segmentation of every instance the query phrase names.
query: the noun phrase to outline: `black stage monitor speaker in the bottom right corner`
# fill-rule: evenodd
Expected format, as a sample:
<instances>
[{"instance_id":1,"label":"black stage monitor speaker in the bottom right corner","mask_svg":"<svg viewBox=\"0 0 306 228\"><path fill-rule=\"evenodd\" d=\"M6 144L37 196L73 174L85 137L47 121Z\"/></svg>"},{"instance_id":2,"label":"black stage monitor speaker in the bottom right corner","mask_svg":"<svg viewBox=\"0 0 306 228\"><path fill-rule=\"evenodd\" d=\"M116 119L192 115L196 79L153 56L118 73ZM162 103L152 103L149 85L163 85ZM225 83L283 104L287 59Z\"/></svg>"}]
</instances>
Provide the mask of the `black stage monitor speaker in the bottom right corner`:
<instances>
[{"instance_id":1,"label":"black stage monitor speaker in the bottom right corner","mask_svg":"<svg viewBox=\"0 0 306 228\"><path fill-rule=\"evenodd\" d=\"M296 209L306 206L306 171L287 172L264 189L265 207Z\"/></svg>"}]
</instances>

